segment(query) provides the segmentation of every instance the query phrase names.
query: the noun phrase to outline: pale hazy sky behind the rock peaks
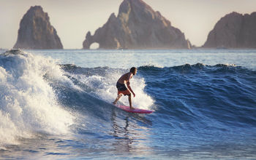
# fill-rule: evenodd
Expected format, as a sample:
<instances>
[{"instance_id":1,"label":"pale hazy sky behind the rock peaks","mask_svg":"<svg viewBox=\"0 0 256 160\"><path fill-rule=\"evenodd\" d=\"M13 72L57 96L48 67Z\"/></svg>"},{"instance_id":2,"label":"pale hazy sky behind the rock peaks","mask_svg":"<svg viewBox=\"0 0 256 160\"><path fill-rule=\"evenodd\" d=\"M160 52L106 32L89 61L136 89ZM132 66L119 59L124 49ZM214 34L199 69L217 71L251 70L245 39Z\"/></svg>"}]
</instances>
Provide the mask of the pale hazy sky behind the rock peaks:
<instances>
[{"instance_id":1,"label":"pale hazy sky behind the rock peaks","mask_svg":"<svg viewBox=\"0 0 256 160\"><path fill-rule=\"evenodd\" d=\"M17 41L20 20L34 5L48 12L64 49L81 49L86 33L102 27L123 0L0 0L0 48ZM217 21L230 12L256 12L256 0L144 0L170 20L192 44L201 46Z\"/></svg>"}]
</instances>

